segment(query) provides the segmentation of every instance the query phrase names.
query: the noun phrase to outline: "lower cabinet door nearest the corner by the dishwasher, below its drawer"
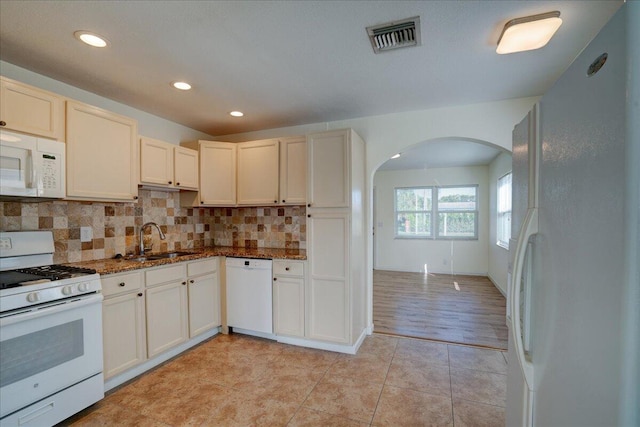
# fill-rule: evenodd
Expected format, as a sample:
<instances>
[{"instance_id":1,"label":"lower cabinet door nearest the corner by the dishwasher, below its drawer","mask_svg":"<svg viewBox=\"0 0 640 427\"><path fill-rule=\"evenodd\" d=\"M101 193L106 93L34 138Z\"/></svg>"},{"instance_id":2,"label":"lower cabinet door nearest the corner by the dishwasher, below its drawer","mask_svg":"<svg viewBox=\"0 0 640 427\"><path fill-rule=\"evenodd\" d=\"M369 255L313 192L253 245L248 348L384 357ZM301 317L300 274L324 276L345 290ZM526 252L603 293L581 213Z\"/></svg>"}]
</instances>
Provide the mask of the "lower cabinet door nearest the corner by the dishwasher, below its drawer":
<instances>
[{"instance_id":1,"label":"lower cabinet door nearest the corner by the dishwasher, below its drawer","mask_svg":"<svg viewBox=\"0 0 640 427\"><path fill-rule=\"evenodd\" d=\"M189 279L189 337L220 325L218 272Z\"/></svg>"}]
</instances>

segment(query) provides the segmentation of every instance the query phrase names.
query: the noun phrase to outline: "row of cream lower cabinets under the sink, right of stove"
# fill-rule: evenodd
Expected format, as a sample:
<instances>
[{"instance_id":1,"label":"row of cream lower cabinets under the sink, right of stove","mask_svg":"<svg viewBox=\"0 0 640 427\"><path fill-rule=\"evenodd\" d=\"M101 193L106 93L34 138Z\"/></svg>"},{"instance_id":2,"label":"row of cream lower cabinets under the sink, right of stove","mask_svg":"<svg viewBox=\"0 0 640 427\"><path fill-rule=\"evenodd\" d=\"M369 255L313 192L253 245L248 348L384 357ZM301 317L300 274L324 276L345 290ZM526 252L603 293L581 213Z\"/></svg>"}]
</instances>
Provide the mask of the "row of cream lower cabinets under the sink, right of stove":
<instances>
[{"instance_id":1,"label":"row of cream lower cabinets under the sink, right of stove","mask_svg":"<svg viewBox=\"0 0 640 427\"><path fill-rule=\"evenodd\" d=\"M218 258L102 277L104 377L220 326Z\"/></svg>"}]
</instances>

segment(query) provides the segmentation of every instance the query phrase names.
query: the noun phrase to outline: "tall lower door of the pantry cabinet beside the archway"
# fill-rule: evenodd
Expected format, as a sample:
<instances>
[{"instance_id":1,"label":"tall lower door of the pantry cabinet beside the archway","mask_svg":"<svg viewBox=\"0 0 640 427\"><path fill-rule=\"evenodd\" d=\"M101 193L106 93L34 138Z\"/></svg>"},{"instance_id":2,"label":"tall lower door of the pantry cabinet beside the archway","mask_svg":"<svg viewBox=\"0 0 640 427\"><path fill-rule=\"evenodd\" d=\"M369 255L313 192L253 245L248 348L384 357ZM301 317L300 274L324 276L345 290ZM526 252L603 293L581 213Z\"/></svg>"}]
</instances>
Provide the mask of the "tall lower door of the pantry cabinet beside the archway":
<instances>
[{"instance_id":1,"label":"tall lower door of the pantry cabinet beside the archway","mask_svg":"<svg viewBox=\"0 0 640 427\"><path fill-rule=\"evenodd\" d=\"M349 232L345 212L312 213L307 219L308 330L311 339L349 343Z\"/></svg>"}]
</instances>

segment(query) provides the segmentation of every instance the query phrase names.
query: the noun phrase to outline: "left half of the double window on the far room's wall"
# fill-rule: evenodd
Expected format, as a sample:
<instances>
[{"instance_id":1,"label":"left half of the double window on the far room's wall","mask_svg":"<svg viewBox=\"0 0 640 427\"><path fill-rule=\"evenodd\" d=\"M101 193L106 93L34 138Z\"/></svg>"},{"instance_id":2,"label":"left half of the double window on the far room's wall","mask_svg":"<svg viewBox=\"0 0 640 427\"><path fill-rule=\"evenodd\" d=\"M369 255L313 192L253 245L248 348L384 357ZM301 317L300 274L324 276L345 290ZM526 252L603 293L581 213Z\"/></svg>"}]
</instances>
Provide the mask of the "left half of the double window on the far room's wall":
<instances>
[{"instance_id":1,"label":"left half of the double window on the far room's wall","mask_svg":"<svg viewBox=\"0 0 640 427\"><path fill-rule=\"evenodd\" d=\"M431 187L396 188L396 236L432 236Z\"/></svg>"}]
</instances>

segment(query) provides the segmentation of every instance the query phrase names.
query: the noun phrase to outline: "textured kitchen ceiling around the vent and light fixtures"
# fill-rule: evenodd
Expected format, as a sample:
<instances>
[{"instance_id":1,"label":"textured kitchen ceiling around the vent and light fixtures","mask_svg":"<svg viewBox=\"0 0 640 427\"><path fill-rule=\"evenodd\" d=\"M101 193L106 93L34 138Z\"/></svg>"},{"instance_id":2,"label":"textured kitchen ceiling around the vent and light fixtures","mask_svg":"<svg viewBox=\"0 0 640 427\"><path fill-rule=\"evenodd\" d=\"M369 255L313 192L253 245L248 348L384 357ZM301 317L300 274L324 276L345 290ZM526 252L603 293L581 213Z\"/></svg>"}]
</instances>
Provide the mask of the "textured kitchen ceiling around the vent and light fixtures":
<instances>
[{"instance_id":1,"label":"textured kitchen ceiling around the vent and light fixtures","mask_svg":"<svg viewBox=\"0 0 640 427\"><path fill-rule=\"evenodd\" d=\"M0 59L224 135L540 95L621 4L2 0ZM506 21L551 10L564 23L547 47L495 53ZM415 15L421 46L373 54L365 27ZM169 86L180 79L193 90Z\"/></svg>"}]
</instances>

